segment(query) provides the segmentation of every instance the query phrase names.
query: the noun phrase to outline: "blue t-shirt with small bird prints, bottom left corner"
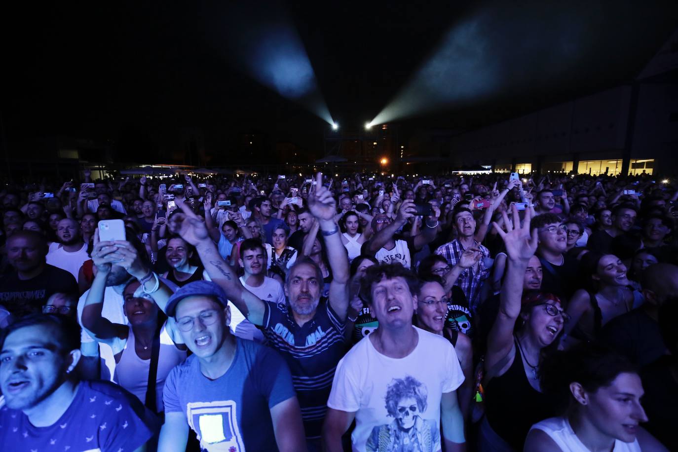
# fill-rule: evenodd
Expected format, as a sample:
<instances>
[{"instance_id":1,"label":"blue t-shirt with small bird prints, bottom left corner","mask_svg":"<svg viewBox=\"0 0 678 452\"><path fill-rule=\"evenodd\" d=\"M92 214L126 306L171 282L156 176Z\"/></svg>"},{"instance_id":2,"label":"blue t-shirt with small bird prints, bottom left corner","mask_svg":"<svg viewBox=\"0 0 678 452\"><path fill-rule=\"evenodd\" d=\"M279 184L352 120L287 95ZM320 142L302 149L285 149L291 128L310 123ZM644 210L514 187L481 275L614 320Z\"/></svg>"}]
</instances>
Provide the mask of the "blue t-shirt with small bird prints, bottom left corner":
<instances>
[{"instance_id":1,"label":"blue t-shirt with small bird prints, bottom left corner","mask_svg":"<svg viewBox=\"0 0 678 452\"><path fill-rule=\"evenodd\" d=\"M134 451L157 431L157 419L111 382L80 382L66 412L49 427L35 427L20 410L0 409L4 451Z\"/></svg>"}]
</instances>

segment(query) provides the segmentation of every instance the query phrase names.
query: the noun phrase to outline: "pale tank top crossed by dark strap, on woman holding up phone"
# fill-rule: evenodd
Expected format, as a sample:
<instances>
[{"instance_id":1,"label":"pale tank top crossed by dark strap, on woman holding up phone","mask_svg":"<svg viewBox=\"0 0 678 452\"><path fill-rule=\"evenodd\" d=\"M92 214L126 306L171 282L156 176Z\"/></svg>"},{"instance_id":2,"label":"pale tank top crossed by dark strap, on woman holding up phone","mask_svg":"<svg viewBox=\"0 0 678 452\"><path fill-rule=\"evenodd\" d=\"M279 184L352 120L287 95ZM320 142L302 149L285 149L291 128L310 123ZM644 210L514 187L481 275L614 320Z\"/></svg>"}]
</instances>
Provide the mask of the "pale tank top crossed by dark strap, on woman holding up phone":
<instances>
[{"instance_id":1,"label":"pale tank top crossed by dark strap, on woman holding up phone","mask_svg":"<svg viewBox=\"0 0 678 452\"><path fill-rule=\"evenodd\" d=\"M155 376L155 403L157 413L165 411L163 405L163 387L165 378L169 371L176 365L184 362L186 352L179 350L167 334L167 323L163 325L160 332L160 354L158 355L158 371ZM148 367L151 366L151 359L139 358L134 348L134 332L129 328L127 343L120 356L120 362L115 365L113 381L129 392L132 392L141 400L146 402L146 386L148 386Z\"/></svg>"}]
</instances>

